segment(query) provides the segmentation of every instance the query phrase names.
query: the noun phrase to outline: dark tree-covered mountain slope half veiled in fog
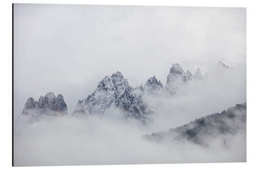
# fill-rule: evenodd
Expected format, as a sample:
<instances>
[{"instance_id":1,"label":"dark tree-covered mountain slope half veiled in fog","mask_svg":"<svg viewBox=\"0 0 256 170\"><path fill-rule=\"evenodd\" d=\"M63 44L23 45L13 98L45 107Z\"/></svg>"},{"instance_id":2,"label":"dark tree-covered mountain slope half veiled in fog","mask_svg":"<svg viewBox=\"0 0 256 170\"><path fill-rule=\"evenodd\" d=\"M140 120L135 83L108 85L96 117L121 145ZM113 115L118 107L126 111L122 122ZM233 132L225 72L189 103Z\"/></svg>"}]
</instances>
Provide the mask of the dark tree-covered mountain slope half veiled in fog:
<instances>
[{"instance_id":1,"label":"dark tree-covered mountain slope half veiled in fog","mask_svg":"<svg viewBox=\"0 0 256 170\"><path fill-rule=\"evenodd\" d=\"M204 146L209 145L211 139L223 138L246 131L246 103L237 104L221 113L214 113L195 119L186 125L170 129L167 132L144 135L145 138L161 141L164 139L188 140Z\"/></svg>"}]
</instances>

